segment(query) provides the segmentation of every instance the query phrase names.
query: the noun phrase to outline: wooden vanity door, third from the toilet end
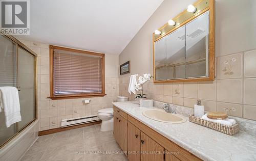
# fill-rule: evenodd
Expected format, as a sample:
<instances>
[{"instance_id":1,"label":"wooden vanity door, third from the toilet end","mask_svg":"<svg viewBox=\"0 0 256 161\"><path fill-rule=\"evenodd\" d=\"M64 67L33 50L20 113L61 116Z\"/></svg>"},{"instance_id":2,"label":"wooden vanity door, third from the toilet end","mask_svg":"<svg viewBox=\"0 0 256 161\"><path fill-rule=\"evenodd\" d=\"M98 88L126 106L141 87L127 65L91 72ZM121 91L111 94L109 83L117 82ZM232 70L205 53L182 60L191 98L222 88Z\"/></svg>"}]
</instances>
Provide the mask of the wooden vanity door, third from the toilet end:
<instances>
[{"instance_id":1,"label":"wooden vanity door, third from the toilet end","mask_svg":"<svg viewBox=\"0 0 256 161\"><path fill-rule=\"evenodd\" d=\"M128 122L128 159L130 161L140 161L140 130L132 123Z\"/></svg>"}]
</instances>

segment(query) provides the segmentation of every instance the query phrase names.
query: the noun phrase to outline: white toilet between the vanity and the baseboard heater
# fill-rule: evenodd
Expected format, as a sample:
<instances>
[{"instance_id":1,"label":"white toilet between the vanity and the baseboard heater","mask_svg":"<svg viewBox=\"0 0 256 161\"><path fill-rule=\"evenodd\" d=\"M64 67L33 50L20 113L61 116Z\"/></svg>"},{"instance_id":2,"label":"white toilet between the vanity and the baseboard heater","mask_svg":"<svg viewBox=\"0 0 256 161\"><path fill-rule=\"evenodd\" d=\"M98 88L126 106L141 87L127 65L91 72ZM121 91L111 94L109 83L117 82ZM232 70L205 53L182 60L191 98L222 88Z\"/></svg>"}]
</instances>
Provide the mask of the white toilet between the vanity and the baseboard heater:
<instances>
[{"instance_id":1,"label":"white toilet between the vanity and the baseboard heater","mask_svg":"<svg viewBox=\"0 0 256 161\"><path fill-rule=\"evenodd\" d=\"M127 100L128 100L128 97L125 97L125 96L117 97L118 102L124 102ZM102 120L100 131L113 130L113 127L114 127L113 115L114 115L113 108L101 109L98 111L98 118Z\"/></svg>"}]
</instances>

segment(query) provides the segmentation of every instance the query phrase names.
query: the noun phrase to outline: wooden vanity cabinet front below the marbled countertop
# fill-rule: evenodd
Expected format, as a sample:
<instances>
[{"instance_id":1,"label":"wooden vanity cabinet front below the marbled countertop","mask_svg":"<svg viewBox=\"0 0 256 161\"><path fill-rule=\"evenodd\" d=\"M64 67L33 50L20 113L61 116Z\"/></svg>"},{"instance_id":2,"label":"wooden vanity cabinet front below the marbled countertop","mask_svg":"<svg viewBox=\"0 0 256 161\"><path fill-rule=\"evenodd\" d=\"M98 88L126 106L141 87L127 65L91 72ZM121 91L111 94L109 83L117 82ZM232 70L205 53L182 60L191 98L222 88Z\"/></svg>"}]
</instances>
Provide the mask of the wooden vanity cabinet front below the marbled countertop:
<instances>
[{"instance_id":1,"label":"wooden vanity cabinet front below the marbled countertop","mask_svg":"<svg viewBox=\"0 0 256 161\"><path fill-rule=\"evenodd\" d=\"M201 160L117 106L114 138L129 160Z\"/></svg>"}]
</instances>

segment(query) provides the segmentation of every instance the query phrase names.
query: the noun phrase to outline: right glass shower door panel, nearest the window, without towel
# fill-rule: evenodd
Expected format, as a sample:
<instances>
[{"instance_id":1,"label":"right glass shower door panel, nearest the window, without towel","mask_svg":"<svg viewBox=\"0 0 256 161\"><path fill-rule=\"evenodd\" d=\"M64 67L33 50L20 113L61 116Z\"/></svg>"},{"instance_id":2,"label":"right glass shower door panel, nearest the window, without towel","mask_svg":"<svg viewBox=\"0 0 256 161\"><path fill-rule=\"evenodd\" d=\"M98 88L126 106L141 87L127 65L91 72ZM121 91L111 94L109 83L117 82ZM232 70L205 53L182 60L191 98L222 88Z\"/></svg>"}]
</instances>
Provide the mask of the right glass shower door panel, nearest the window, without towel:
<instances>
[{"instance_id":1,"label":"right glass shower door panel, nearest the window, without towel","mask_svg":"<svg viewBox=\"0 0 256 161\"><path fill-rule=\"evenodd\" d=\"M18 122L18 131L26 127L35 119L35 73L34 59L26 50L17 48L17 79L19 88L20 115L22 121Z\"/></svg>"}]
</instances>

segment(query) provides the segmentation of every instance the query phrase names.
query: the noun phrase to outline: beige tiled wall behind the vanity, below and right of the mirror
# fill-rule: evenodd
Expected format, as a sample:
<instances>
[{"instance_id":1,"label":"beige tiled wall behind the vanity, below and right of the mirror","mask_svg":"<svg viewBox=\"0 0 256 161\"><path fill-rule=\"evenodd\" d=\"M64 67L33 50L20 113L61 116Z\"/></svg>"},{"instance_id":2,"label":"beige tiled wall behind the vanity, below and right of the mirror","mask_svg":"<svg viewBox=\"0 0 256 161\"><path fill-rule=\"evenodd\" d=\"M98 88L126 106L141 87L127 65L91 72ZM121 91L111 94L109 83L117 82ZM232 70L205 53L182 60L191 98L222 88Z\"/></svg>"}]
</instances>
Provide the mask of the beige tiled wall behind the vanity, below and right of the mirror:
<instances>
[{"instance_id":1,"label":"beige tiled wall behind the vanity, below and right of the mirror","mask_svg":"<svg viewBox=\"0 0 256 161\"><path fill-rule=\"evenodd\" d=\"M194 107L201 100L205 111L226 111L231 116L256 120L256 49L218 55L214 82L187 82L144 85L144 93L154 100ZM139 73L142 75L143 73ZM129 74L119 78L119 94L127 92Z\"/></svg>"}]
</instances>

